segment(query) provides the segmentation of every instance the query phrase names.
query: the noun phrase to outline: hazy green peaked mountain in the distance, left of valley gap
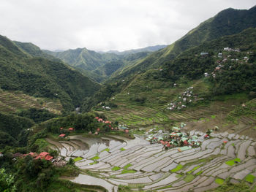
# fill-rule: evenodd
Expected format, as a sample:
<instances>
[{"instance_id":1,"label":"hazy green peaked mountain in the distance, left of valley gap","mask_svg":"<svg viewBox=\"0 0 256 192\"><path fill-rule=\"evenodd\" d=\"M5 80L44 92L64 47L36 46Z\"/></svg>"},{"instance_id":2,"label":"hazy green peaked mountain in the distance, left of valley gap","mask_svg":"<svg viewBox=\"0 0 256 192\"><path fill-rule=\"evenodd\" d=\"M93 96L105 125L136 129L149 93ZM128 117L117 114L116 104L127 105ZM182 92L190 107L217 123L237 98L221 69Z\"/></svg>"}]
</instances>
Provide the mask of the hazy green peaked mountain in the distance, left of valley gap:
<instances>
[{"instance_id":1,"label":"hazy green peaked mountain in the distance, left of valley gap","mask_svg":"<svg viewBox=\"0 0 256 192\"><path fill-rule=\"evenodd\" d=\"M61 59L70 66L75 66L87 71L93 71L99 66L103 66L110 61L115 61L120 58L120 56L113 53L100 54L93 50L87 50L86 48L65 50L61 52L44 50L44 52Z\"/></svg>"}]
</instances>

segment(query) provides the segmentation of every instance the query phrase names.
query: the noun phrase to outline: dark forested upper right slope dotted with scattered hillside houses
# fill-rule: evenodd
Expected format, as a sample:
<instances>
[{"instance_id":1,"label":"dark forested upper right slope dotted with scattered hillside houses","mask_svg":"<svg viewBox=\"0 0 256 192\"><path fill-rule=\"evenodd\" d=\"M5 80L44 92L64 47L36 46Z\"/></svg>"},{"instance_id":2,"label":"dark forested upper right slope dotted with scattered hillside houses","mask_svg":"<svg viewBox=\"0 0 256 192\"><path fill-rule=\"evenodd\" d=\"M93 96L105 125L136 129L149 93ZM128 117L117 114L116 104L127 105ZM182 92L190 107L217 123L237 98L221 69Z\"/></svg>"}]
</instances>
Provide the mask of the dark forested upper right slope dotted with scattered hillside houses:
<instances>
[{"instance_id":1,"label":"dark forested upper right slope dotted with scattered hillside houses","mask_svg":"<svg viewBox=\"0 0 256 192\"><path fill-rule=\"evenodd\" d=\"M214 94L256 91L255 42L256 28L204 42L167 62L159 77L175 82L181 77L197 80L208 73L214 82ZM229 50L224 50L225 47Z\"/></svg>"}]
</instances>

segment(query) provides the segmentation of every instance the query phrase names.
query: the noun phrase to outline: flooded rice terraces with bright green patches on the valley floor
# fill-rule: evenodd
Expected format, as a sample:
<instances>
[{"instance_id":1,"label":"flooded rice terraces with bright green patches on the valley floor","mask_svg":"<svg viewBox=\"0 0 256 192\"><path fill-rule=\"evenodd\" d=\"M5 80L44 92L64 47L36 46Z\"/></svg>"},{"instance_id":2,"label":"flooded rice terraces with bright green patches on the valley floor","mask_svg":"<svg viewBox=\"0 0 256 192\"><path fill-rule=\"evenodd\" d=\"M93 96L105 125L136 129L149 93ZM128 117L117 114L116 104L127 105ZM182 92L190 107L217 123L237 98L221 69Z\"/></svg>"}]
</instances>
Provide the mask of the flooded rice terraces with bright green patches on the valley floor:
<instances>
[{"instance_id":1,"label":"flooded rice terraces with bright green patches on the valley floor","mask_svg":"<svg viewBox=\"0 0 256 192\"><path fill-rule=\"evenodd\" d=\"M108 191L118 191L118 185L127 185L132 191L206 191L228 177L232 183L246 180L252 185L246 178L253 181L256 176L254 139L224 132L203 140L200 131L190 134L200 135L203 143L183 152L162 150L162 145L151 145L143 137L72 136L69 141L48 142L64 157L75 158L80 174L71 178L72 182L100 185Z\"/></svg>"}]
</instances>

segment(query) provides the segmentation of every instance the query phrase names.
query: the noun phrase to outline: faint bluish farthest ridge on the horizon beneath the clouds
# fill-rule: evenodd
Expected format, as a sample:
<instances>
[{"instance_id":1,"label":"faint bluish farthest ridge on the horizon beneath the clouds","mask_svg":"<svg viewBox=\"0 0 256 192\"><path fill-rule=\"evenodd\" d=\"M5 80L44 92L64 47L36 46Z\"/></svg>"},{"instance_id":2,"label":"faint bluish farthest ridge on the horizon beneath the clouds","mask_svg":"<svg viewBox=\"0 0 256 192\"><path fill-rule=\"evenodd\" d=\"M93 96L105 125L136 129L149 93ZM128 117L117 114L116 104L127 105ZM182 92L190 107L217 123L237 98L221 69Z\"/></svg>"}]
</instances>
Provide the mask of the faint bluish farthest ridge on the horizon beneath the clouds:
<instances>
[{"instance_id":1,"label":"faint bluish farthest ridge on the horizon beneath the clouds","mask_svg":"<svg viewBox=\"0 0 256 192\"><path fill-rule=\"evenodd\" d=\"M134 50L124 50L124 51L118 51L118 50L109 50L109 51L99 51L98 53L115 53L116 55L128 55L133 53L140 53L140 52L154 52L157 50L161 50L163 48L167 47L167 45L155 45L155 46L149 46L149 47L143 47L140 49L134 49Z\"/></svg>"}]
</instances>

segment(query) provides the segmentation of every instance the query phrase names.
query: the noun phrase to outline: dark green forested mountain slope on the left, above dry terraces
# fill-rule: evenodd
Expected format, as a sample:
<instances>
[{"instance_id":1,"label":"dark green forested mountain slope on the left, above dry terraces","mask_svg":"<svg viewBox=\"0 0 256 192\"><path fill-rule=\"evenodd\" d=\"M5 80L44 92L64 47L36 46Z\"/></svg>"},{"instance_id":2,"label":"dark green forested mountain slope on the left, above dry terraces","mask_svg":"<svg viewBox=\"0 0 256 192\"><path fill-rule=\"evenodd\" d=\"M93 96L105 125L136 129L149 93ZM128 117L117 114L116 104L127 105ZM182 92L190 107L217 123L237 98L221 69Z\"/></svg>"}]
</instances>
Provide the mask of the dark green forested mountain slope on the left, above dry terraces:
<instances>
[{"instance_id":1,"label":"dark green forested mountain slope on the left, above dry terraces","mask_svg":"<svg viewBox=\"0 0 256 192\"><path fill-rule=\"evenodd\" d=\"M65 110L73 110L101 87L75 69L47 57L37 46L0 36L0 88L60 100Z\"/></svg>"}]
</instances>

